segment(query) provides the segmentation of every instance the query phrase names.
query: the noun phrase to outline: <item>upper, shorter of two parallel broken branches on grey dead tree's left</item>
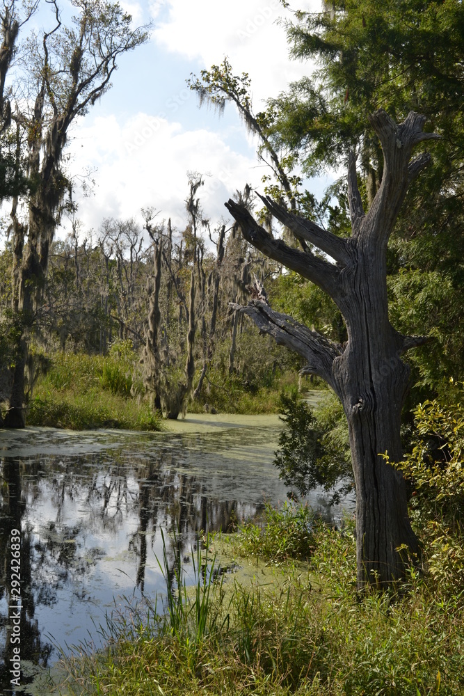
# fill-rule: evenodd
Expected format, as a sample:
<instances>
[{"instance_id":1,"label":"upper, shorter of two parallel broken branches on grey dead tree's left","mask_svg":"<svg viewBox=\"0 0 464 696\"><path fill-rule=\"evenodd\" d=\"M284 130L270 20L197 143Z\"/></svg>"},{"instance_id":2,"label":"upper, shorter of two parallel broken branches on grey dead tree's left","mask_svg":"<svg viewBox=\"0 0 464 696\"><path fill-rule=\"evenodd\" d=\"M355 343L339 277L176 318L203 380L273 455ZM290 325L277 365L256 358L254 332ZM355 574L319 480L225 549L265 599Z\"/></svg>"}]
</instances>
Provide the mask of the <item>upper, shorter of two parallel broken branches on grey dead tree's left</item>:
<instances>
[{"instance_id":1,"label":"upper, shorter of two parallel broken branches on grey dead tree's left","mask_svg":"<svg viewBox=\"0 0 464 696\"><path fill-rule=\"evenodd\" d=\"M327 232L327 230L319 227L312 220L307 220L290 212L284 205L275 203L269 196L261 196L259 193L257 195L275 219L289 228L297 239L303 239L305 242L314 244L314 246L317 246L321 251L335 259L335 261L339 261L342 264L350 262L346 239L336 237L331 232Z\"/></svg>"}]
</instances>

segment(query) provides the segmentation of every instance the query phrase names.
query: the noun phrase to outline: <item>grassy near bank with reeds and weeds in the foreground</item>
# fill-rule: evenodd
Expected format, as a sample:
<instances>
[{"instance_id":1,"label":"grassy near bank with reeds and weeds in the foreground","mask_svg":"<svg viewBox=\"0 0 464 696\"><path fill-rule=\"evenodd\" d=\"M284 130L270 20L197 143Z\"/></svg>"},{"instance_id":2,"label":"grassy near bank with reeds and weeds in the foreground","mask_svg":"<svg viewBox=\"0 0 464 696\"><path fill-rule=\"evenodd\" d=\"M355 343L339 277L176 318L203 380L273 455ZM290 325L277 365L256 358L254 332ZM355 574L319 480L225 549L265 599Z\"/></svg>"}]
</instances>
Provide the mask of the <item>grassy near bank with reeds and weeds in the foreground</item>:
<instances>
[{"instance_id":1,"label":"grassy near bank with reeds and weeds in the foreground","mask_svg":"<svg viewBox=\"0 0 464 696\"><path fill-rule=\"evenodd\" d=\"M464 693L462 587L411 571L401 594L358 596L353 531L352 521L328 528L303 508L268 509L216 538L253 570L248 580L214 579L209 553L196 590L171 594L163 616L147 606L125 613L106 627L106 651L67 661L63 693Z\"/></svg>"}]
</instances>

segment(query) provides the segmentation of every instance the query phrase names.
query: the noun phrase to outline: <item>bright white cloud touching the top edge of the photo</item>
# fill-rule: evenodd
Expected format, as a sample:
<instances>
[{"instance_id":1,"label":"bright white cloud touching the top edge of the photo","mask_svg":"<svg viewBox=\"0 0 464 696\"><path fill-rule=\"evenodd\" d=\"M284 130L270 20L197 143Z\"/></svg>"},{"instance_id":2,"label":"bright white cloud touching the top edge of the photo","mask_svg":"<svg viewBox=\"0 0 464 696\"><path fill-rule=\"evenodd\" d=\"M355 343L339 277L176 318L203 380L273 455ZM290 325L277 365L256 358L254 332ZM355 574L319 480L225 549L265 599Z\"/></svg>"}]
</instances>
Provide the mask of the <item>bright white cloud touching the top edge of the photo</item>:
<instances>
[{"instance_id":1,"label":"bright white cloud touching the top edge of the photo","mask_svg":"<svg viewBox=\"0 0 464 696\"><path fill-rule=\"evenodd\" d=\"M321 10L321 0L300 5ZM154 40L167 51L200 60L205 68L227 55L234 72L250 74L255 109L262 108L260 100L276 96L311 70L289 61L285 29L277 20L291 19L291 13L279 0L170 0L168 8L168 17L155 26Z\"/></svg>"}]
</instances>

